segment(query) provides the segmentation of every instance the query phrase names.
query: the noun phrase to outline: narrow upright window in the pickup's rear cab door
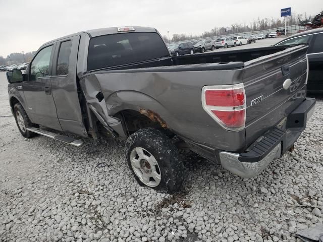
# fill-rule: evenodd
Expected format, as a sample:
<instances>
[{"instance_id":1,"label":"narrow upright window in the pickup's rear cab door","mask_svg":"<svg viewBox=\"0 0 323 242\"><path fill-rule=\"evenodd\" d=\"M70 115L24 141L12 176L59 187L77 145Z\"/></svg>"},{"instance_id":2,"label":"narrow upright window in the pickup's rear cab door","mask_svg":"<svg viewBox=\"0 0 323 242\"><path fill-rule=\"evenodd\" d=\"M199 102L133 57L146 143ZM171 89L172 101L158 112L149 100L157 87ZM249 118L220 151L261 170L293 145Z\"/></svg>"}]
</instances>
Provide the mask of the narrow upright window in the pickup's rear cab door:
<instances>
[{"instance_id":1,"label":"narrow upright window in the pickup's rear cab door","mask_svg":"<svg viewBox=\"0 0 323 242\"><path fill-rule=\"evenodd\" d=\"M61 43L59 57L57 59L57 76L67 75L69 73L71 46L72 40Z\"/></svg>"}]
</instances>

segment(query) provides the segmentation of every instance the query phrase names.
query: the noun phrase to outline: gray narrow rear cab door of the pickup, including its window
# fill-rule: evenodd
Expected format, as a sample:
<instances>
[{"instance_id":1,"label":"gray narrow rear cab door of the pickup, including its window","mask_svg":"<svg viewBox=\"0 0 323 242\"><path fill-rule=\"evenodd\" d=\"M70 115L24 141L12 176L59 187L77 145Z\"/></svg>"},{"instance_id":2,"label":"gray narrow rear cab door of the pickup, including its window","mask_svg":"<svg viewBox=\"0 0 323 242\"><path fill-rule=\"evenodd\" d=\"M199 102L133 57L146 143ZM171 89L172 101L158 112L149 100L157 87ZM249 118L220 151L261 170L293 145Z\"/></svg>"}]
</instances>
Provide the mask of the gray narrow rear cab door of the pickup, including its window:
<instances>
[{"instance_id":1,"label":"gray narrow rear cab door of the pickup, including its window","mask_svg":"<svg viewBox=\"0 0 323 242\"><path fill-rule=\"evenodd\" d=\"M77 35L57 42L52 65L51 90L63 131L86 136L76 76L79 41L80 36Z\"/></svg>"}]
</instances>

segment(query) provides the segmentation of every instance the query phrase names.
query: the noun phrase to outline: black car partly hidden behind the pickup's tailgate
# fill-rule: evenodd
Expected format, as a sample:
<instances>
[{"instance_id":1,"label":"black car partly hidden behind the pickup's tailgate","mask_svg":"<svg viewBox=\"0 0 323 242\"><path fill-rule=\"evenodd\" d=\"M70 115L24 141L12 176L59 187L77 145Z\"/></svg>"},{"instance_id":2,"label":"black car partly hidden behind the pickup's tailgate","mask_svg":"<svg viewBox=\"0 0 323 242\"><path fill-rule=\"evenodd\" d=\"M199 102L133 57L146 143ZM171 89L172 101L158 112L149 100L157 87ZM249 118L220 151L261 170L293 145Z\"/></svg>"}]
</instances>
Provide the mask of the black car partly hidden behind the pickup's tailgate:
<instances>
[{"instance_id":1,"label":"black car partly hidden behind the pickup's tailgate","mask_svg":"<svg viewBox=\"0 0 323 242\"><path fill-rule=\"evenodd\" d=\"M275 45L308 44L307 92L323 93L323 28L292 35Z\"/></svg>"}]
</instances>

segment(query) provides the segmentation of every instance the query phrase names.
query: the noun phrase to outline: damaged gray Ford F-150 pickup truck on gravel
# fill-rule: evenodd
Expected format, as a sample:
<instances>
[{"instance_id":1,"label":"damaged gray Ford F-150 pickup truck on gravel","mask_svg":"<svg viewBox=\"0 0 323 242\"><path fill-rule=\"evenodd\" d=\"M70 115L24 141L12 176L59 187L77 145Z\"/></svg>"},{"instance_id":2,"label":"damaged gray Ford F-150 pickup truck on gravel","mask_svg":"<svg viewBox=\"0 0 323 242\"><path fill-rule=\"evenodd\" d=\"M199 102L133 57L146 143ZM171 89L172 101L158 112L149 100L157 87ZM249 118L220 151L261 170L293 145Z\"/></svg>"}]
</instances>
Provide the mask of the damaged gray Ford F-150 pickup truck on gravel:
<instances>
[{"instance_id":1,"label":"damaged gray Ford F-150 pickup truck on gravel","mask_svg":"<svg viewBox=\"0 0 323 242\"><path fill-rule=\"evenodd\" d=\"M84 31L43 44L24 74L8 72L9 101L25 138L124 139L138 183L174 193L184 179L179 147L242 177L293 147L315 106L306 51L171 56L154 28Z\"/></svg>"}]
</instances>

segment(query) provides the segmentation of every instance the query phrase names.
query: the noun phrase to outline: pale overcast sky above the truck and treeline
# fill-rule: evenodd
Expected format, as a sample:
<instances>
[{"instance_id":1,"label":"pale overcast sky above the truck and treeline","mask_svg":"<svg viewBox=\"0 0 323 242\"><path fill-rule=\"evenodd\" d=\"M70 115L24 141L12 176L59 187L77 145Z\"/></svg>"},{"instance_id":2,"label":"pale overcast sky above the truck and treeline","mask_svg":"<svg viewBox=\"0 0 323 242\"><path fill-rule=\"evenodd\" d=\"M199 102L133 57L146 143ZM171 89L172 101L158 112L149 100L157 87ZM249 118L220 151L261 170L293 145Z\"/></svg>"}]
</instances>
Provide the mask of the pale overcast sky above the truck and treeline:
<instances>
[{"instance_id":1,"label":"pale overcast sky above the truck and treeline","mask_svg":"<svg viewBox=\"0 0 323 242\"><path fill-rule=\"evenodd\" d=\"M221 3L221 4L220 4ZM0 0L0 55L29 52L74 32L116 26L148 26L162 35L200 34L253 19L278 18L280 9L317 14L322 0Z\"/></svg>"}]
</instances>

